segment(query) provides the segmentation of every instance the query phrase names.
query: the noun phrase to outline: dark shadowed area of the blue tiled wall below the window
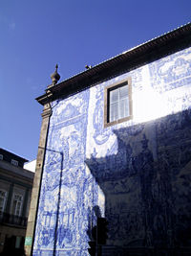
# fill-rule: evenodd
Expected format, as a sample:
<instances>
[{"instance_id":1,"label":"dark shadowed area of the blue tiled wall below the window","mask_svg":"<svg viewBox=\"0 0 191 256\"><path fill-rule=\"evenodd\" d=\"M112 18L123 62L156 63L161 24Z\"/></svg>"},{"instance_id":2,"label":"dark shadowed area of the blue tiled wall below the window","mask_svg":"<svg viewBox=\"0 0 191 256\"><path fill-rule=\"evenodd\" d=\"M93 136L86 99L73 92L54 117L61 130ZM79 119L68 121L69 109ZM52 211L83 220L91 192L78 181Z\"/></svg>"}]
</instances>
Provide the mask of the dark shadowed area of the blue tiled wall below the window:
<instances>
[{"instance_id":1,"label":"dark shadowed area of the blue tiled wall below the window","mask_svg":"<svg viewBox=\"0 0 191 256\"><path fill-rule=\"evenodd\" d=\"M190 128L190 109L119 128L117 154L87 160L105 195L108 245L190 246Z\"/></svg>"}]
</instances>

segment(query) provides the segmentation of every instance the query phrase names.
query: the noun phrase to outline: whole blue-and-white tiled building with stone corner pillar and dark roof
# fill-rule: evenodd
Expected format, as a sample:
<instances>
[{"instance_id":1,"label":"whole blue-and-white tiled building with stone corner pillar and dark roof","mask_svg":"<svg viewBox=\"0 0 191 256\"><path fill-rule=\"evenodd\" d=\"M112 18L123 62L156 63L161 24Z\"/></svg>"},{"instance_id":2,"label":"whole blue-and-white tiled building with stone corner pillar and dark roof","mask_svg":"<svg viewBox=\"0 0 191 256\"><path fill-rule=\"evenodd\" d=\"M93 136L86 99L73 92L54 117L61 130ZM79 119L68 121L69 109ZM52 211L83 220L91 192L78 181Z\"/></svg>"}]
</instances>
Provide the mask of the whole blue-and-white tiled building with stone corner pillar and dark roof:
<instances>
[{"instance_id":1,"label":"whole blue-and-white tiled building with stone corner pillar and dark roof","mask_svg":"<svg viewBox=\"0 0 191 256\"><path fill-rule=\"evenodd\" d=\"M189 255L191 24L52 79L28 255Z\"/></svg>"}]
</instances>

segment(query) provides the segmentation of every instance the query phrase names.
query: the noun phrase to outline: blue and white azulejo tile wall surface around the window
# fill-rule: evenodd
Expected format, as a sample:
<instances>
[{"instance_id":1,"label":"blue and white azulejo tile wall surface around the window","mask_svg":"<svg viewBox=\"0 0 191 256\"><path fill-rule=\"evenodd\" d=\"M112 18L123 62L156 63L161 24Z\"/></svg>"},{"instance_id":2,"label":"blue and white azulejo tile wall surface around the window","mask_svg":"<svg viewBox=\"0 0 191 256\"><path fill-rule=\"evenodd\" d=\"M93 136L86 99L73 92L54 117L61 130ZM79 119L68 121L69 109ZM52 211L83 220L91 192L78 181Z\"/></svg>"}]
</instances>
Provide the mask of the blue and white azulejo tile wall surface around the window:
<instances>
[{"instance_id":1,"label":"blue and white azulejo tile wall surface around the window","mask_svg":"<svg viewBox=\"0 0 191 256\"><path fill-rule=\"evenodd\" d=\"M104 87L128 77L133 120L104 128ZM191 48L53 102L33 255L89 255L97 217L118 255L189 246L190 106Z\"/></svg>"}]
</instances>

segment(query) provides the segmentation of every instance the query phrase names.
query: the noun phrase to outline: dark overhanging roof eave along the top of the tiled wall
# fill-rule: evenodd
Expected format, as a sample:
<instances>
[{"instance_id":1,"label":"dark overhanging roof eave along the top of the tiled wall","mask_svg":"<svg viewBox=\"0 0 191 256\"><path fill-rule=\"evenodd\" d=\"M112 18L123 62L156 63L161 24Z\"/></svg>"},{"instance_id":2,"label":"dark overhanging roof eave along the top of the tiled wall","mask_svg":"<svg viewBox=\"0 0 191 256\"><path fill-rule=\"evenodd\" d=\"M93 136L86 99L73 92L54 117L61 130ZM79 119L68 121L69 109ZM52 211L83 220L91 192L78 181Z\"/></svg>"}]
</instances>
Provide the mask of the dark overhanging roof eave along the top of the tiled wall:
<instances>
[{"instance_id":1,"label":"dark overhanging roof eave along the top of the tiled wall","mask_svg":"<svg viewBox=\"0 0 191 256\"><path fill-rule=\"evenodd\" d=\"M188 46L191 46L191 23L140 44L114 58L107 59L72 78L49 86L46 93L36 100L41 105L45 105L50 101L74 94L76 91L114 78Z\"/></svg>"}]
</instances>

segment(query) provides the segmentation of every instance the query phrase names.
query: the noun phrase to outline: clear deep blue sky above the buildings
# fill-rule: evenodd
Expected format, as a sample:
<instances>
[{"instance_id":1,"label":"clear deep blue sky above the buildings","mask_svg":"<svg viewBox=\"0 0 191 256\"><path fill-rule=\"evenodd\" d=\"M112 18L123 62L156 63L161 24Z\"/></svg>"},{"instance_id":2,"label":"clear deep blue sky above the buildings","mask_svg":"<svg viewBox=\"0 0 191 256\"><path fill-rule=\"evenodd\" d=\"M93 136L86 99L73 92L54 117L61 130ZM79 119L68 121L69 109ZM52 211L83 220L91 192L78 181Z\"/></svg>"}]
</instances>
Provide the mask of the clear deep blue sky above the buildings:
<instances>
[{"instance_id":1,"label":"clear deep blue sky above the buildings","mask_svg":"<svg viewBox=\"0 0 191 256\"><path fill-rule=\"evenodd\" d=\"M191 20L191 0L1 0L0 148L36 157L55 63L63 81Z\"/></svg>"}]
</instances>

